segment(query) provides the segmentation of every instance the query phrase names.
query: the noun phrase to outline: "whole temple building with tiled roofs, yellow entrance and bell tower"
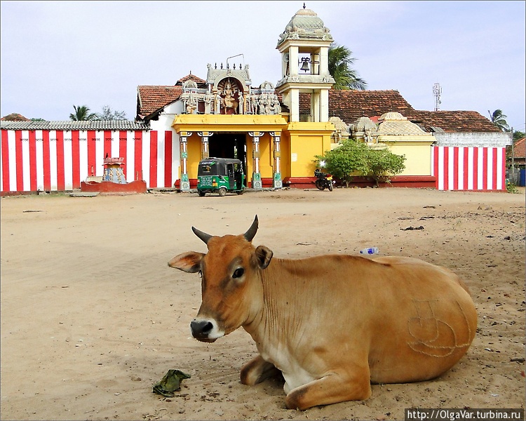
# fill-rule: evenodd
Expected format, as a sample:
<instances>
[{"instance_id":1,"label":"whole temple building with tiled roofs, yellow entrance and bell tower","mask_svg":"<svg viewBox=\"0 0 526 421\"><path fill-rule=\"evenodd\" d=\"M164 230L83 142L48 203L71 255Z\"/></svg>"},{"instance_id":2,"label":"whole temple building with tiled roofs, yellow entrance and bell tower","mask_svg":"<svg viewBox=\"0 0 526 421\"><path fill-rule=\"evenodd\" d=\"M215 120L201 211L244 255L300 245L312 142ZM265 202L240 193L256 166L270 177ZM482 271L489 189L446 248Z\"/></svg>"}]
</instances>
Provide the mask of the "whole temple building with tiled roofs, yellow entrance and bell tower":
<instances>
[{"instance_id":1,"label":"whole temple building with tiled roofs, yellow entrance and bell tower","mask_svg":"<svg viewBox=\"0 0 526 421\"><path fill-rule=\"evenodd\" d=\"M229 58L225 66L208 64L205 79L189 74L174 86L140 86L137 121L172 142L165 143L164 168L177 173L174 186L196 187L199 161L217 157L240 159L252 189L312 187L315 157L351 137L405 156L393 184L435 187L433 171L443 164L433 147L446 126L459 130L454 122L468 117L473 126L491 128L473 112L444 119L443 112L415 110L398 91L335 91L328 69L333 41L321 18L302 8L278 37L281 79L275 85L252 86L249 66Z\"/></svg>"}]
</instances>

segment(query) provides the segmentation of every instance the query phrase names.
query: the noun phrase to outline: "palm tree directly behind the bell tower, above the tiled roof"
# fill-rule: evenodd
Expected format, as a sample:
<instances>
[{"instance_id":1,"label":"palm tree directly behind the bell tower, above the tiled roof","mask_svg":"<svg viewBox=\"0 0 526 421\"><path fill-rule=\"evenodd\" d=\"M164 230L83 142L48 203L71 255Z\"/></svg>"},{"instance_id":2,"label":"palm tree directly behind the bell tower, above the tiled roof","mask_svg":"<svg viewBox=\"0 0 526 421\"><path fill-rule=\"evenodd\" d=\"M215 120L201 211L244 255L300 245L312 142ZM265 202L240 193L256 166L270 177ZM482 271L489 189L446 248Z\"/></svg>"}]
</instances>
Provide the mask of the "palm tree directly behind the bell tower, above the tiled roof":
<instances>
[{"instance_id":1,"label":"palm tree directly behind the bell tower, above the tiled roof","mask_svg":"<svg viewBox=\"0 0 526 421\"><path fill-rule=\"evenodd\" d=\"M329 73L335 79L332 86L337 91L352 89L355 91L365 91L367 82L360 79L356 70L351 68L354 59L351 57L352 51L345 46L332 43L329 47Z\"/></svg>"}]
</instances>

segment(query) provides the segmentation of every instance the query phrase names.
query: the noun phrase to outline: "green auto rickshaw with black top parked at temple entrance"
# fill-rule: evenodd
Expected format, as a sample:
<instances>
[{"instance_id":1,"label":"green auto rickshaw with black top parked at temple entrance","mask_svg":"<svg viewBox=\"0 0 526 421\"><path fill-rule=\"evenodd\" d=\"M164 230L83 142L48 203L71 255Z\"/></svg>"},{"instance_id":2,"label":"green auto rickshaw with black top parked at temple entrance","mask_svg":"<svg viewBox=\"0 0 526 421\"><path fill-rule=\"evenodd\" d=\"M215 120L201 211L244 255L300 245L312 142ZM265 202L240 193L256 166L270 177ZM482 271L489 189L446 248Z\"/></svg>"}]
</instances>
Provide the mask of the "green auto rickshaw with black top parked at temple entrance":
<instances>
[{"instance_id":1,"label":"green auto rickshaw with black top parked at temple entrance","mask_svg":"<svg viewBox=\"0 0 526 421\"><path fill-rule=\"evenodd\" d=\"M227 192L243 194L245 174L243 163L239 159L207 158L199 161L197 169L197 192L199 196L206 193L218 193L224 196Z\"/></svg>"}]
</instances>

